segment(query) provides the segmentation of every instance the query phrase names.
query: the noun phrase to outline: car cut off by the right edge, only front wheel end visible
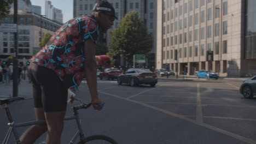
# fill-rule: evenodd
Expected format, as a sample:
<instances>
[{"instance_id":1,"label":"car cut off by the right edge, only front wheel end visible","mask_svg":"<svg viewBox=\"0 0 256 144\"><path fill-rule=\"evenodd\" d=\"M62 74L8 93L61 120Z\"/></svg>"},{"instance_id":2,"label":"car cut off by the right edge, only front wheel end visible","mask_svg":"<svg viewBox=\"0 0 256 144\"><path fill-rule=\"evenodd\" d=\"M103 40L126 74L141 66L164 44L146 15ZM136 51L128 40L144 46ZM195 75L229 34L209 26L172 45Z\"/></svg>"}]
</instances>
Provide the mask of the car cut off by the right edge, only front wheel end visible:
<instances>
[{"instance_id":1,"label":"car cut off by the right edge, only front wheel end visible","mask_svg":"<svg viewBox=\"0 0 256 144\"><path fill-rule=\"evenodd\" d=\"M253 95L256 94L256 75L243 81L240 93L245 98L253 98Z\"/></svg>"}]
</instances>

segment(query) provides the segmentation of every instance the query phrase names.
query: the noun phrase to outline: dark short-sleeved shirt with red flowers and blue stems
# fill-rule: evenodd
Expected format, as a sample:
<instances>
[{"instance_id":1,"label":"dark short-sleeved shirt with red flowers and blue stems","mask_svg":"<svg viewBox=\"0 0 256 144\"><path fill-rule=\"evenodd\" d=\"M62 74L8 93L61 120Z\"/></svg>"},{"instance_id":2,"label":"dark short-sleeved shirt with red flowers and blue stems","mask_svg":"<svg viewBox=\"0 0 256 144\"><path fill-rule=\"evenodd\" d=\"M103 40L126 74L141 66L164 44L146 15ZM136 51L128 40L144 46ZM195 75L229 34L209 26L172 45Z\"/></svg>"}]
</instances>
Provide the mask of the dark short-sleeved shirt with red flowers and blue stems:
<instances>
[{"instance_id":1,"label":"dark short-sleeved shirt with red flowers and blue stems","mask_svg":"<svg viewBox=\"0 0 256 144\"><path fill-rule=\"evenodd\" d=\"M96 44L98 34L98 24L92 16L69 20L31 61L54 70L67 87L76 91L83 79L84 42L91 39Z\"/></svg>"}]
</instances>

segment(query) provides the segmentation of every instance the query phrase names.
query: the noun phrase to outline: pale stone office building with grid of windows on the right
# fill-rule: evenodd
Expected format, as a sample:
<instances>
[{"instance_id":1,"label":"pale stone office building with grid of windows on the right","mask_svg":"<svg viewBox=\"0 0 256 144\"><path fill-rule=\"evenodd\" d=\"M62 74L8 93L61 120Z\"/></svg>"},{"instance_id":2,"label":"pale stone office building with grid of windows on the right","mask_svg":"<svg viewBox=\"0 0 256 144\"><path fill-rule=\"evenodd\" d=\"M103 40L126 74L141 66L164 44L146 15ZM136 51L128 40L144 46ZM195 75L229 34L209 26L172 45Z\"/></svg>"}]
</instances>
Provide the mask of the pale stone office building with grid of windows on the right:
<instances>
[{"instance_id":1,"label":"pale stone office building with grid of windows on the right","mask_svg":"<svg viewBox=\"0 0 256 144\"><path fill-rule=\"evenodd\" d=\"M254 23L248 19L253 17L250 4L254 3L158 1L157 68L172 69L178 74L186 71L189 75L200 69L213 70L220 76L256 74Z\"/></svg>"}]
</instances>

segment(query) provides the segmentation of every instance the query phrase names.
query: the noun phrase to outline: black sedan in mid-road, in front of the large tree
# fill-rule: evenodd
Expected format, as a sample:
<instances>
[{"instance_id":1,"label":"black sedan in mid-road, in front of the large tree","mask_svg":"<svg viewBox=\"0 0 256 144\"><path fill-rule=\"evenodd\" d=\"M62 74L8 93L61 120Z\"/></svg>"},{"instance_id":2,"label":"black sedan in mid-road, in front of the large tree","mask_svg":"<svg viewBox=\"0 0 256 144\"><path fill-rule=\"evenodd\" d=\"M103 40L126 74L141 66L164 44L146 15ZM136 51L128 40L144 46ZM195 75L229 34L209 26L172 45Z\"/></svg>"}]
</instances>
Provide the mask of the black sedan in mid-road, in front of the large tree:
<instances>
[{"instance_id":1,"label":"black sedan in mid-road, in front of the large tree","mask_svg":"<svg viewBox=\"0 0 256 144\"><path fill-rule=\"evenodd\" d=\"M146 84L154 87L158 83L158 76L148 69L130 68L118 76L118 85L130 84L132 87Z\"/></svg>"}]
</instances>

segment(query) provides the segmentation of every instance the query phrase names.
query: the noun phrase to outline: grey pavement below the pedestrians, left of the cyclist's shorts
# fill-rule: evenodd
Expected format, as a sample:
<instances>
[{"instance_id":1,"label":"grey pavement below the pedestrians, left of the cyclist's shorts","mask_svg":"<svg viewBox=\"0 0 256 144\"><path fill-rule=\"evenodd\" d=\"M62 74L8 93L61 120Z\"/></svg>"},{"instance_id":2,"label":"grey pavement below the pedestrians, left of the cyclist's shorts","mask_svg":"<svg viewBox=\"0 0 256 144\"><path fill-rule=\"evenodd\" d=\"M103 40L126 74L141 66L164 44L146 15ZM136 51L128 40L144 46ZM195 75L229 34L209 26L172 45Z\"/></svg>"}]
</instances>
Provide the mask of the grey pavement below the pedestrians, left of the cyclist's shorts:
<instances>
[{"instance_id":1,"label":"grey pavement below the pedestrians, left of the cyclist's shorts","mask_svg":"<svg viewBox=\"0 0 256 144\"><path fill-rule=\"evenodd\" d=\"M0 98L10 97L13 97L13 81L10 81L9 85L0 83ZM18 85L18 97L26 99L31 99L33 97L32 86L27 79L21 80L20 85Z\"/></svg>"}]
</instances>

